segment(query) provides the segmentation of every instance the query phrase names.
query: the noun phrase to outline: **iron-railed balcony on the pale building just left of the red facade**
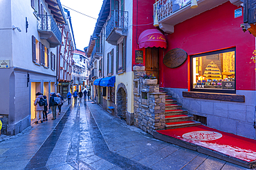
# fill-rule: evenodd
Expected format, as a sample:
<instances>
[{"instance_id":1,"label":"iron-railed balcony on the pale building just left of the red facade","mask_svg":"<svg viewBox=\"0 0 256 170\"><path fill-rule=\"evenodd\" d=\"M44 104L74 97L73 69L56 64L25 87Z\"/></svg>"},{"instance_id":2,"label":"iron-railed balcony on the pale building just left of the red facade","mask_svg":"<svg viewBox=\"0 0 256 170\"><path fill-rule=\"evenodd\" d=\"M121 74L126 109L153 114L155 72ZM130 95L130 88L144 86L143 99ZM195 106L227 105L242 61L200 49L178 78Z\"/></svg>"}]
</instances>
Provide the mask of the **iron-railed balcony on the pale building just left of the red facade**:
<instances>
[{"instance_id":1,"label":"iron-railed balcony on the pale building just left of the red facade","mask_svg":"<svg viewBox=\"0 0 256 170\"><path fill-rule=\"evenodd\" d=\"M128 12L112 10L111 18L107 21L106 41L111 45L117 45L118 39L127 36L128 31Z\"/></svg>"}]
</instances>

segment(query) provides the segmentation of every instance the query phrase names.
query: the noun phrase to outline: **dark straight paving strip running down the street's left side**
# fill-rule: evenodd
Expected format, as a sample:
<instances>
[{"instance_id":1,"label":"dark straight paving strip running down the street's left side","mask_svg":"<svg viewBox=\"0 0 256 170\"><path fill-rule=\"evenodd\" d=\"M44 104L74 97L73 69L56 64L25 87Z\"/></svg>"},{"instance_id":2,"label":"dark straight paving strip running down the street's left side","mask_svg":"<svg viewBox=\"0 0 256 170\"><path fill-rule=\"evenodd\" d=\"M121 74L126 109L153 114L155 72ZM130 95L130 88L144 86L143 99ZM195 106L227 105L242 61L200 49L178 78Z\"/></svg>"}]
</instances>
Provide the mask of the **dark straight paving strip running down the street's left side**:
<instances>
[{"instance_id":1,"label":"dark straight paving strip running down the street's left side","mask_svg":"<svg viewBox=\"0 0 256 170\"><path fill-rule=\"evenodd\" d=\"M40 147L37 153L35 153L24 169L47 169L46 162L48 161L60 134L62 134L62 130L66 125L66 121L68 120L68 116L71 114L71 111L71 107L69 107L55 129L53 129L53 132L48 136L42 147Z\"/></svg>"}]
</instances>

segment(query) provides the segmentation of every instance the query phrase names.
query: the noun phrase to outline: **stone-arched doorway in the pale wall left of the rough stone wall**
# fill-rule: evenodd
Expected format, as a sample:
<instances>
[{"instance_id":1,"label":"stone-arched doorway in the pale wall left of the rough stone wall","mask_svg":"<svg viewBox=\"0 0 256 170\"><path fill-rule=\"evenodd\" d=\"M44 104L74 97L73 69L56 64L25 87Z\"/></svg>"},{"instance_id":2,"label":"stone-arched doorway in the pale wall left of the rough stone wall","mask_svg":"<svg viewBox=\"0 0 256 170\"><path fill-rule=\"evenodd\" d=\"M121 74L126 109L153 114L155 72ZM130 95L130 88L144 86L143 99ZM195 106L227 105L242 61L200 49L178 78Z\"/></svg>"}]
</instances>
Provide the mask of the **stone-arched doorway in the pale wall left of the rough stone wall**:
<instances>
[{"instance_id":1,"label":"stone-arched doorway in the pale wall left of the rough stone wall","mask_svg":"<svg viewBox=\"0 0 256 170\"><path fill-rule=\"evenodd\" d=\"M127 113L127 89L123 83L120 83L116 93L117 116L126 120Z\"/></svg>"}]
</instances>

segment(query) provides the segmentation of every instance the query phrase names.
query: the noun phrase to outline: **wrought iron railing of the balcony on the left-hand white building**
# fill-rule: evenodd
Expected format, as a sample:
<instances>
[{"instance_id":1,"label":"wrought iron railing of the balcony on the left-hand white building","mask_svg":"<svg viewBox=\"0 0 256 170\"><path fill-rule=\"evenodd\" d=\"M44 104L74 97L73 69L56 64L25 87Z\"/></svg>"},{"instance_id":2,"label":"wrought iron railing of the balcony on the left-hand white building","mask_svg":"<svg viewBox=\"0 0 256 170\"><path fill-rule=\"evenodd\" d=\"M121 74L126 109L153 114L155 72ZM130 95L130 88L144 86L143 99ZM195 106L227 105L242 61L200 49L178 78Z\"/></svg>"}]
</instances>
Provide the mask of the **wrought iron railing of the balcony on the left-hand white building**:
<instances>
[{"instance_id":1,"label":"wrought iron railing of the balcony on the left-hand white building","mask_svg":"<svg viewBox=\"0 0 256 170\"><path fill-rule=\"evenodd\" d=\"M46 30L52 31L53 34L57 37L60 43L62 42L62 33L60 32L60 28L58 28L56 22L54 21L51 15L39 14L40 18L37 20L37 30Z\"/></svg>"}]
</instances>

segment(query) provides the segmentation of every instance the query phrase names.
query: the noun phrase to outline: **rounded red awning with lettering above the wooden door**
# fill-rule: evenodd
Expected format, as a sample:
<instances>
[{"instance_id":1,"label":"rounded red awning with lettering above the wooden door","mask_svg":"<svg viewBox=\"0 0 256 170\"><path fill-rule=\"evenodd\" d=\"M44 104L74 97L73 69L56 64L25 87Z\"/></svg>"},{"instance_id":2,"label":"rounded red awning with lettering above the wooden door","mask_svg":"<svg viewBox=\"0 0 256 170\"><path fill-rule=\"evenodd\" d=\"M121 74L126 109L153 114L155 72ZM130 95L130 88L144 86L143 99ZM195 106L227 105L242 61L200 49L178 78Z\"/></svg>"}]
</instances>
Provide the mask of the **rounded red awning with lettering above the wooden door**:
<instances>
[{"instance_id":1,"label":"rounded red awning with lettering above the wooden door","mask_svg":"<svg viewBox=\"0 0 256 170\"><path fill-rule=\"evenodd\" d=\"M163 47L166 48L165 36L156 29L149 29L141 32L138 37L138 45L140 48L143 47Z\"/></svg>"}]
</instances>

